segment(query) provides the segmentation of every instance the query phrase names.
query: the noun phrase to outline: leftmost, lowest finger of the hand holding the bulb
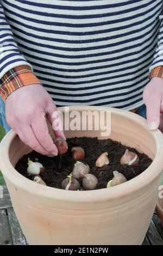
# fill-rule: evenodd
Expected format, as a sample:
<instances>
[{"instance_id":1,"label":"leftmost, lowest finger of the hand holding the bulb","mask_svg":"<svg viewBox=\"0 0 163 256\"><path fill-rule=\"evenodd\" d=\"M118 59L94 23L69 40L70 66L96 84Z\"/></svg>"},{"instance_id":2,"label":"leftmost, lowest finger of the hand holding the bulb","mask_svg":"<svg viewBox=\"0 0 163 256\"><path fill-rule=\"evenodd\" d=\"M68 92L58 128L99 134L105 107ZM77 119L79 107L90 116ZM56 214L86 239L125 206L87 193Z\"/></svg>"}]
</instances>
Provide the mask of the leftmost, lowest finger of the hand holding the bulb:
<instances>
[{"instance_id":1,"label":"leftmost, lowest finger of the hand holding the bulb","mask_svg":"<svg viewBox=\"0 0 163 256\"><path fill-rule=\"evenodd\" d=\"M21 129L17 130L17 134L21 141L33 150L39 152L42 155L53 156L45 148L42 147L40 142L37 140L31 126L22 124Z\"/></svg>"}]
</instances>

